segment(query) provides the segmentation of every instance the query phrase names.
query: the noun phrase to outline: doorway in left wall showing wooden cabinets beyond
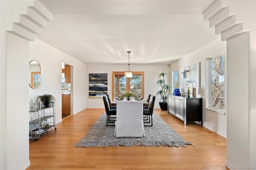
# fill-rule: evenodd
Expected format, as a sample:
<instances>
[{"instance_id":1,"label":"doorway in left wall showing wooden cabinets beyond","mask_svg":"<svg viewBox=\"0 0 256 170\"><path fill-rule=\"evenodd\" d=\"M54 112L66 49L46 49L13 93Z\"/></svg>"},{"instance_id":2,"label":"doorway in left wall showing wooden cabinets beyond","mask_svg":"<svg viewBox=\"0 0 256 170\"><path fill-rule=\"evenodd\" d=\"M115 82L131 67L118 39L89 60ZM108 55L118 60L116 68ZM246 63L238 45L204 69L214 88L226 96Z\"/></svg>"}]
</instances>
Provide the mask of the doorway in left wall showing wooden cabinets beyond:
<instances>
[{"instance_id":1,"label":"doorway in left wall showing wooden cabinets beyond","mask_svg":"<svg viewBox=\"0 0 256 170\"><path fill-rule=\"evenodd\" d=\"M62 62L62 119L71 113L71 66Z\"/></svg>"}]
</instances>

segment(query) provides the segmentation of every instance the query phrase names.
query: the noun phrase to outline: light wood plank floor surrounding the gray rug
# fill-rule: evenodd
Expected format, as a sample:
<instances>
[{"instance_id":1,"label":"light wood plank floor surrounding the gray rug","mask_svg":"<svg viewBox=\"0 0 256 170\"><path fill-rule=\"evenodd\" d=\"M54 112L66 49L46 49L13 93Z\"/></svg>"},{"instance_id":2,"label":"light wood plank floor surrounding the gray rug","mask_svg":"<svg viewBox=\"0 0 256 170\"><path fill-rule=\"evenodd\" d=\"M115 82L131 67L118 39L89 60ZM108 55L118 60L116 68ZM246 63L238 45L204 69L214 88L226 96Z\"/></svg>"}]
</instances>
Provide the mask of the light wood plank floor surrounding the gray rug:
<instances>
[{"instance_id":1,"label":"light wood plank floor surrounding the gray rug","mask_svg":"<svg viewBox=\"0 0 256 170\"><path fill-rule=\"evenodd\" d=\"M41 134L37 142L30 140L28 170L228 170L226 139L194 122L183 122L154 109L165 122L194 146L182 147L90 147L75 148L104 109L86 109L65 118L54 128ZM154 124L153 124L154 126Z\"/></svg>"}]
</instances>

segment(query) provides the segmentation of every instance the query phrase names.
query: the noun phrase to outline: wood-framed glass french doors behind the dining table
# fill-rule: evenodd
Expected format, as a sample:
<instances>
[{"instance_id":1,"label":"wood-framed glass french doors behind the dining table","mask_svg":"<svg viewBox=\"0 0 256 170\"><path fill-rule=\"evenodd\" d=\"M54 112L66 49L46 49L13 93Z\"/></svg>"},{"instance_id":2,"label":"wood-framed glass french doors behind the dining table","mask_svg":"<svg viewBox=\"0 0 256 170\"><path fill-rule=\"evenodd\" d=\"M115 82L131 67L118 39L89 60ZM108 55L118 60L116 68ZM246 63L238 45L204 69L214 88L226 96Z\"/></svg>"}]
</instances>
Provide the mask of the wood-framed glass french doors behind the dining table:
<instances>
[{"instance_id":1,"label":"wood-framed glass french doors behind the dining table","mask_svg":"<svg viewBox=\"0 0 256 170\"><path fill-rule=\"evenodd\" d=\"M112 72L112 100L126 92L144 98L144 72L132 74L132 78L126 78L124 72Z\"/></svg>"}]
</instances>

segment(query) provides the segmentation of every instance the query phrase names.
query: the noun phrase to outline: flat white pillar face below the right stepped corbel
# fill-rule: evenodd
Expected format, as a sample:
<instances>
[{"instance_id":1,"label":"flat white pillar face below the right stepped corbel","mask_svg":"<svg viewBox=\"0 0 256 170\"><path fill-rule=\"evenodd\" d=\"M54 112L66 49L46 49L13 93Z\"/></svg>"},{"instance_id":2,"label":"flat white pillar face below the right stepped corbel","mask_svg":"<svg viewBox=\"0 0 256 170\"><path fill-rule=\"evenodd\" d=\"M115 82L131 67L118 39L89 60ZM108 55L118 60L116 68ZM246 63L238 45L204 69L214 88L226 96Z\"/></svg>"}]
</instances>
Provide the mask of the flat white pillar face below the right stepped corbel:
<instances>
[{"instance_id":1,"label":"flat white pillar face below the right stepped corbel","mask_svg":"<svg viewBox=\"0 0 256 170\"><path fill-rule=\"evenodd\" d=\"M239 80L240 86L228 84L228 164L248 165L249 155L249 93L248 93L248 34L242 34L227 41L228 82ZM239 48L235 48L239 46ZM243 56L240 58L240 56ZM238 67L240 69L238 69ZM239 77L239 79L238 79ZM242 90L241 90L242 87ZM234 98L240 100L234 100ZM239 118L239 119L238 119ZM234 130L235 129L235 130ZM235 141L235 142L234 142ZM236 148L236 149L234 149Z\"/></svg>"}]
</instances>

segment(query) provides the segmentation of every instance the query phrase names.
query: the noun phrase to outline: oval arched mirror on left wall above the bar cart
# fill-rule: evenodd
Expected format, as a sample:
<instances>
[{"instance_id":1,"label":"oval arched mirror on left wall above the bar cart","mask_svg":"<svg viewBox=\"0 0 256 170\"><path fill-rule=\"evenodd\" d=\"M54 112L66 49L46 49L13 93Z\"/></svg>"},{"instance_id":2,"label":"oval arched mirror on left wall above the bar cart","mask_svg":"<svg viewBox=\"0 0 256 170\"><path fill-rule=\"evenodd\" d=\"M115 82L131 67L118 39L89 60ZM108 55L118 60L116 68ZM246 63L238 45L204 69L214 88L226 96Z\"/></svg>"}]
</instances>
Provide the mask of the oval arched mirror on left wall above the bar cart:
<instances>
[{"instance_id":1,"label":"oval arched mirror on left wall above the bar cart","mask_svg":"<svg viewBox=\"0 0 256 170\"><path fill-rule=\"evenodd\" d=\"M29 62L29 86L36 89L41 84L41 66L36 60Z\"/></svg>"}]
</instances>

